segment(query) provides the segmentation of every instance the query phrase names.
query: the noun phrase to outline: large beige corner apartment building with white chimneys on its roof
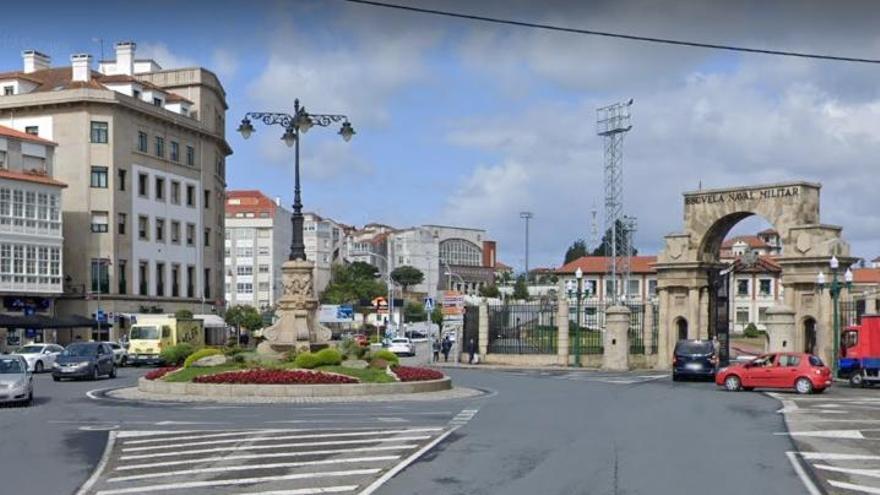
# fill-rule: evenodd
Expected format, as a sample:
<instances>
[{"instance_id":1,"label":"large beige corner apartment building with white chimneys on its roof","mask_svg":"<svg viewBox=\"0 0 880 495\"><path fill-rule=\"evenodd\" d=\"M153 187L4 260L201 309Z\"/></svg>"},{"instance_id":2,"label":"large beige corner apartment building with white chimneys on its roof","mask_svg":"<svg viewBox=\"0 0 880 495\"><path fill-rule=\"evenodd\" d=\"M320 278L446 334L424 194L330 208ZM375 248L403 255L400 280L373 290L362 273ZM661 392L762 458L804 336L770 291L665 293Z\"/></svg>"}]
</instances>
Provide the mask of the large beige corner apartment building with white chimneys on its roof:
<instances>
[{"instance_id":1,"label":"large beige corner apartment building with white chimneys on its roof","mask_svg":"<svg viewBox=\"0 0 880 495\"><path fill-rule=\"evenodd\" d=\"M97 71L88 54L64 67L35 50L22 58L0 73L0 125L58 144L55 178L68 185L58 314L222 305L232 151L219 79L138 59L133 42L117 43ZM117 338L120 320L94 337Z\"/></svg>"}]
</instances>

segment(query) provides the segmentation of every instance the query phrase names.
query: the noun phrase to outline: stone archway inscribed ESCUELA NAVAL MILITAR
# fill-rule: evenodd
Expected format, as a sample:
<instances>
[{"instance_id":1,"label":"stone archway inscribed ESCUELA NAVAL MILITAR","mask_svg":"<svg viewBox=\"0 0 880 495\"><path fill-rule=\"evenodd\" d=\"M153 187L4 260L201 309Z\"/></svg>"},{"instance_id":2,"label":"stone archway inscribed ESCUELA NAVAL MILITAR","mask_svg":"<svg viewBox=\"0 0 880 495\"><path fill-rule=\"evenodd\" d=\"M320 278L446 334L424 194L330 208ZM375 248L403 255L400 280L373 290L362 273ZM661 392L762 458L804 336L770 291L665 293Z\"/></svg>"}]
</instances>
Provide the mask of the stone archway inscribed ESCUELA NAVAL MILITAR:
<instances>
[{"instance_id":1,"label":"stone archway inscribed ESCUELA NAVAL MILITAR","mask_svg":"<svg viewBox=\"0 0 880 495\"><path fill-rule=\"evenodd\" d=\"M831 256L837 256L842 269L855 260L841 239L841 227L820 223L820 189L820 184L789 182L684 193L683 230L665 237L656 264L658 368L670 366L680 315L686 315L689 338L709 337L710 298L715 297L708 290L709 273L723 267L718 252L727 233L752 215L763 217L779 233L782 255L776 261L782 266L784 305L794 312L794 321L812 315L817 322L816 351L830 362L831 300L827 291L816 293L816 275L828 271ZM803 332L794 331L794 321L790 335L803 340ZM803 342L794 344L803 347Z\"/></svg>"}]
</instances>

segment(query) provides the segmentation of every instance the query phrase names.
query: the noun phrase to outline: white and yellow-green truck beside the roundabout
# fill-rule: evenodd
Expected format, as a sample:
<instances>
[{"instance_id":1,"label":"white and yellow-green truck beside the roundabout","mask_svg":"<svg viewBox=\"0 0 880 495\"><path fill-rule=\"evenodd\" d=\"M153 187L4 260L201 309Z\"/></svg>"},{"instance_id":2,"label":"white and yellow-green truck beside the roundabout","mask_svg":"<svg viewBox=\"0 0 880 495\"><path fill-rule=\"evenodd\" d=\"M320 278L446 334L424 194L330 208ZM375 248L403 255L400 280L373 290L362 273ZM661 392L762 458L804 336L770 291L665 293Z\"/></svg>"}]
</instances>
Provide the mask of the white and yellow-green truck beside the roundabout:
<instances>
[{"instance_id":1,"label":"white and yellow-green truck beside the roundabout","mask_svg":"<svg viewBox=\"0 0 880 495\"><path fill-rule=\"evenodd\" d=\"M199 319L175 318L174 315L135 315L129 329L128 361L140 364L162 364L162 349L188 343L205 345L204 322Z\"/></svg>"}]
</instances>

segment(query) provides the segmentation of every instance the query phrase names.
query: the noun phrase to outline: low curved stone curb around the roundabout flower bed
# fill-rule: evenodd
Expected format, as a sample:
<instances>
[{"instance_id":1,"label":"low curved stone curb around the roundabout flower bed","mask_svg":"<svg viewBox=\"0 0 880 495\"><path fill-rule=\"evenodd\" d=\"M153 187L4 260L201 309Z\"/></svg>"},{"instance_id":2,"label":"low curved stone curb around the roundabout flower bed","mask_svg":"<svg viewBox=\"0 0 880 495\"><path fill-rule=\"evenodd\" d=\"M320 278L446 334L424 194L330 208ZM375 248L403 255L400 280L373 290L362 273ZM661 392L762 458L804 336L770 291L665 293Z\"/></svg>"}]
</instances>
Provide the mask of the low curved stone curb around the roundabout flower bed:
<instances>
[{"instance_id":1,"label":"low curved stone curb around the roundabout flower bed","mask_svg":"<svg viewBox=\"0 0 880 495\"><path fill-rule=\"evenodd\" d=\"M149 394L202 397L357 397L437 392L452 388L446 376L439 380L394 383L351 383L332 385L221 385L213 383L173 383L138 379L138 390Z\"/></svg>"}]
</instances>

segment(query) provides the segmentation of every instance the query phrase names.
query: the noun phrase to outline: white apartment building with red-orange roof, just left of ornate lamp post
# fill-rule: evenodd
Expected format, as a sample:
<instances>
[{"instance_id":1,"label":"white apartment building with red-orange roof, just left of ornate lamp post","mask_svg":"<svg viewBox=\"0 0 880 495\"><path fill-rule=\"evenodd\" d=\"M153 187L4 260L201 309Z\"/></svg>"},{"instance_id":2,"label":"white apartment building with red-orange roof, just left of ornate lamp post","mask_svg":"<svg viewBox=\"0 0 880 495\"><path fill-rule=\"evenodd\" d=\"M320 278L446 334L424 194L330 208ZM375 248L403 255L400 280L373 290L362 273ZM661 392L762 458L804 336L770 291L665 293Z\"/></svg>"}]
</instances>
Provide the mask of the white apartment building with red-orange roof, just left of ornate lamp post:
<instances>
[{"instance_id":1,"label":"white apartment building with red-orange roof, just left of ornate lamp post","mask_svg":"<svg viewBox=\"0 0 880 495\"><path fill-rule=\"evenodd\" d=\"M225 236L227 305L274 307L293 237L290 211L260 191L228 191Z\"/></svg>"}]
</instances>

